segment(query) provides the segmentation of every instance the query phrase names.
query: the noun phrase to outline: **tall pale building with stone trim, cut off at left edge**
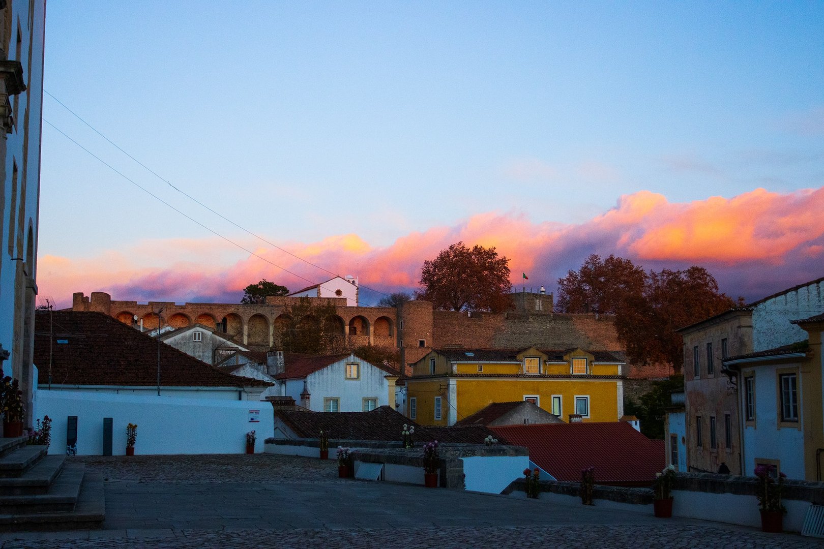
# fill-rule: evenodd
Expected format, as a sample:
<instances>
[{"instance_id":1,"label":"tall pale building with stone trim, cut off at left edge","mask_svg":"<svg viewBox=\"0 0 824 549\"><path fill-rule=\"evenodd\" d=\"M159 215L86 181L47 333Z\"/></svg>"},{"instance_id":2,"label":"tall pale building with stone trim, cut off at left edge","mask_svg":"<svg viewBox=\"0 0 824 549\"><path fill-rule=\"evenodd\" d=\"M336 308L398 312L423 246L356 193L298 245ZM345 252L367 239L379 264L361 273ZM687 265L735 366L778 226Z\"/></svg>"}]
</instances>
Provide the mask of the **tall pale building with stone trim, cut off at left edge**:
<instances>
[{"instance_id":1,"label":"tall pale building with stone trim, cut off at left edge","mask_svg":"<svg viewBox=\"0 0 824 549\"><path fill-rule=\"evenodd\" d=\"M0 364L31 410L44 0L0 2ZM26 421L30 424L30 414Z\"/></svg>"}]
</instances>

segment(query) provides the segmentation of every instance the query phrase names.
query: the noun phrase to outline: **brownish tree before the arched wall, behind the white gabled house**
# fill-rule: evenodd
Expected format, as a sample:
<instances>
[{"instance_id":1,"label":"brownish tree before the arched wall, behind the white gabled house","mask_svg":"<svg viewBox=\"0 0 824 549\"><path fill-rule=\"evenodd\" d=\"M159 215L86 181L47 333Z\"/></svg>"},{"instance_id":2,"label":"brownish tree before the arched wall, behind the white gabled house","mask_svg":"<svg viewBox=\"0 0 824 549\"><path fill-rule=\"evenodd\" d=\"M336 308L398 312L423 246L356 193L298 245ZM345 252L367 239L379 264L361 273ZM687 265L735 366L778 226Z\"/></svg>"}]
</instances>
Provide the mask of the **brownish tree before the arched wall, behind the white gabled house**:
<instances>
[{"instance_id":1,"label":"brownish tree before the arched wall, behind the white gabled house","mask_svg":"<svg viewBox=\"0 0 824 549\"><path fill-rule=\"evenodd\" d=\"M316 303L311 297L302 297L283 313L289 317L279 333L284 351L334 355L346 350L343 321L329 301Z\"/></svg>"}]
</instances>

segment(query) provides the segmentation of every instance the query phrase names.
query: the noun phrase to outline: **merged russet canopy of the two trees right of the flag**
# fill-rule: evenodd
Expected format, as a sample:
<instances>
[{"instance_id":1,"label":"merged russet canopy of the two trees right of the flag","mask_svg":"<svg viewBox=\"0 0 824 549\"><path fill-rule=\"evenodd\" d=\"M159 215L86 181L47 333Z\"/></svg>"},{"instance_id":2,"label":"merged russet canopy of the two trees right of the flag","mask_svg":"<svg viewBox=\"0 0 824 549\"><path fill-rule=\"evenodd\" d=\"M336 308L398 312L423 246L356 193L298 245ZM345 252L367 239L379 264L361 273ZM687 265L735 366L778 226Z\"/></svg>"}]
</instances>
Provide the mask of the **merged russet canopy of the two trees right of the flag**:
<instances>
[{"instance_id":1,"label":"merged russet canopy of the two trees right of the flag","mask_svg":"<svg viewBox=\"0 0 824 549\"><path fill-rule=\"evenodd\" d=\"M681 371L683 338L677 333L733 307L718 282L703 267L644 272L629 259L589 256L578 271L558 281L559 311L585 312L587 307L616 315L616 332L630 361L672 364Z\"/></svg>"}]
</instances>

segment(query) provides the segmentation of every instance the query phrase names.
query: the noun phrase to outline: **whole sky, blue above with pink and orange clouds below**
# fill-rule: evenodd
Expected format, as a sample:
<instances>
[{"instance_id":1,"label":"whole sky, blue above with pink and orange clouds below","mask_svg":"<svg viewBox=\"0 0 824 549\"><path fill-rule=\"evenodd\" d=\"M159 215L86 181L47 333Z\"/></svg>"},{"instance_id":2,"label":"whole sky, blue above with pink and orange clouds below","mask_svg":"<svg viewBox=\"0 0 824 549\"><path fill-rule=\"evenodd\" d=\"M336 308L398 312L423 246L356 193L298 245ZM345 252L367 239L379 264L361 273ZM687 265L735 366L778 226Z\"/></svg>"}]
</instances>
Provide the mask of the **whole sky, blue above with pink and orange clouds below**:
<instances>
[{"instance_id":1,"label":"whole sky, blue above with pink and orange clouds below","mask_svg":"<svg viewBox=\"0 0 824 549\"><path fill-rule=\"evenodd\" d=\"M40 300L239 301L459 240L824 276L822 2L49 0ZM522 273L529 280L522 281Z\"/></svg>"}]
</instances>

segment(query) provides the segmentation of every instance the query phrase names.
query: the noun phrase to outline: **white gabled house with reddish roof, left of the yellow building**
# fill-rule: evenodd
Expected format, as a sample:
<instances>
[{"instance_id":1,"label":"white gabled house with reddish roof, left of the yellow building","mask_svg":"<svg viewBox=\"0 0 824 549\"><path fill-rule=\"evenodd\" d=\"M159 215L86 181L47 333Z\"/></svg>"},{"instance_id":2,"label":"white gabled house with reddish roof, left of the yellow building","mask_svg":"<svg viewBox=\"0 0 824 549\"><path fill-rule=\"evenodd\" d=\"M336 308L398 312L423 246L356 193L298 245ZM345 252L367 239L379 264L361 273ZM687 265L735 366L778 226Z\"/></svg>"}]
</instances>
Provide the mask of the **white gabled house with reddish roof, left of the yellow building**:
<instances>
[{"instance_id":1,"label":"white gabled house with reddish roof, left of the yellow building","mask_svg":"<svg viewBox=\"0 0 824 549\"><path fill-rule=\"evenodd\" d=\"M289 359L274 378L279 396L288 396L313 412L368 412L396 408L400 373L373 365L353 353Z\"/></svg>"}]
</instances>

